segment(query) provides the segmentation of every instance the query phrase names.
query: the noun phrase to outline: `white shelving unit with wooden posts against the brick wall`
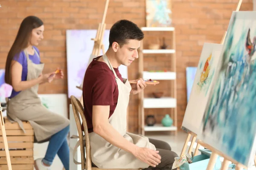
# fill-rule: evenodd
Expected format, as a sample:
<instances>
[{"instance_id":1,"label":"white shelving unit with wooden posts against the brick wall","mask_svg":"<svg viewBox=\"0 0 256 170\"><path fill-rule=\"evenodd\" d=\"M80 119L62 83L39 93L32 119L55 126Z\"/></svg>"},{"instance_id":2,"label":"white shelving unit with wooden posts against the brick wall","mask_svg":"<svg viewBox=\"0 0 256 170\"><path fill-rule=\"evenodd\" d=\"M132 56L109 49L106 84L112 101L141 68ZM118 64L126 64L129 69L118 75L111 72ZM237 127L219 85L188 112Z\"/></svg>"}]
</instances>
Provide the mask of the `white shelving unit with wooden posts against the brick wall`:
<instances>
[{"instance_id":1,"label":"white shelving unit with wooden posts against the brick wall","mask_svg":"<svg viewBox=\"0 0 256 170\"><path fill-rule=\"evenodd\" d=\"M172 97L161 98L144 98L144 93L139 94L139 133L145 135L146 131L175 131L177 135L177 85L176 85L176 50L175 50L175 28L174 27L142 27L142 31L171 31L172 32L172 49L143 49L143 41L141 41L141 50L139 57L139 73L143 79L152 80L169 80L173 82L173 88L170 89L173 93ZM172 61L172 71L152 72L144 71L143 57L150 54L168 54ZM173 125L164 127L162 124L154 126L145 125L144 109L152 108L170 108L174 109L174 114L170 115L173 119ZM157 113L156 113L157 114Z\"/></svg>"}]
</instances>

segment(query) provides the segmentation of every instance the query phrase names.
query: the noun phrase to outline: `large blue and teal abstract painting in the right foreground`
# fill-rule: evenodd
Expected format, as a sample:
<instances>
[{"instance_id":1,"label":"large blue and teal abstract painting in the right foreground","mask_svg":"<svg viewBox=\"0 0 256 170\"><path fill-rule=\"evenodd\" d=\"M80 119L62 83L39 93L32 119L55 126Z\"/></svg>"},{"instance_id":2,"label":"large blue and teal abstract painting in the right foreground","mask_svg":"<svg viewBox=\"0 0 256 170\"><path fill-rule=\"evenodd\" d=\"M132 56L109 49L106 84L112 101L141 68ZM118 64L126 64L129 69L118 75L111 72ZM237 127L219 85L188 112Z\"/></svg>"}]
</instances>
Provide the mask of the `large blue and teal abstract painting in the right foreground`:
<instances>
[{"instance_id":1,"label":"large blue and teal abstract painting in the right foreground","mask_svg":"<svg viewBox=\"0 0 256 170\"><path fill-rule=\"evenodd\" d=\"M256 153L256 11L233 12L198 139L250 167Z\"/></svg>"}]
</instances>

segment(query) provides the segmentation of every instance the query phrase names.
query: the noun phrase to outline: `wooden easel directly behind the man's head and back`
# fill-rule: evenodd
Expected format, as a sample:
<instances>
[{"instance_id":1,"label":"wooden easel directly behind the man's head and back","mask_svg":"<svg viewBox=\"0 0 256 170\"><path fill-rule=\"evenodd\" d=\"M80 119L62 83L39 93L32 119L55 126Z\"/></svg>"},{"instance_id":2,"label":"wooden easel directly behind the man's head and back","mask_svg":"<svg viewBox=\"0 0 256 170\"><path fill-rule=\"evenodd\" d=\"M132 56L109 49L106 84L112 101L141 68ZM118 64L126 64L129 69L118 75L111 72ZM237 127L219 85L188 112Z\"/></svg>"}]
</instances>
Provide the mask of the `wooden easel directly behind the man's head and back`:
<instances>
[{"instance_id":1,"label":"wooden easel directly behind the man's head and back","mask_svg":"<svg viewBox=\"0 0 256 170\"><path fill-rule=\"evenodd\" d=\"M106 28L105 20L106 20L107 11L108 11L108 4L109 4L109 0L106 0L105 10L104 10L103 17L102 17L102 23L99 23L99 27L98 27L98 30L96 33L96 38L91 39L94 41L94 46L93 46L93 52L90 55L90 59L88 61L87 67L90 64L90 62L92 62L93 58L99 56L100 50L102 50L102 54L105 53L105 47L104 47L104 44L102 43L102 41L103 41L103 36L105 33L105 28ZM76 88L83 90L83 81L82 81L81 85L76 86ZM81 98L79 101L83 105L83 95L81 95Z\"/></svg>"}]
</instances>

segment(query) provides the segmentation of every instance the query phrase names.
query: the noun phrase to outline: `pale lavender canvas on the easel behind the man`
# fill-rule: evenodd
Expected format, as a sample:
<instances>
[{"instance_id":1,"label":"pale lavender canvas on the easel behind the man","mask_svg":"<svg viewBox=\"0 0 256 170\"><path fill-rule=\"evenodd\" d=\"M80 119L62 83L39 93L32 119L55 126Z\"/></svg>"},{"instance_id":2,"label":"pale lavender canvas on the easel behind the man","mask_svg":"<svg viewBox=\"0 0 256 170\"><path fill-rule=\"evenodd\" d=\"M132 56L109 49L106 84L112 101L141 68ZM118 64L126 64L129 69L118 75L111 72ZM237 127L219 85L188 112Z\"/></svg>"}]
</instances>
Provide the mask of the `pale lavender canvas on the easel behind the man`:
<instances>
[{"instance_id":1,"label":"pale lavender canvas on the easel behind the man","mask_svg":"<svg viewBox=\"0 0 256 170\"><path fill-rule=\"evenodd\" d=\"M103 44L105 51L109 46L109 31L105 30ZM90 55L93 51L94 41L91 38L96 37L97 30L67 30L67 86L68 98L71 95L80 99L82 91L76 86L80 86L84 79ZM100 53L102 55L102 51ZM121 65L119 72L123 78L128 78L127 67Z\"/></svg>"}]
</instances>

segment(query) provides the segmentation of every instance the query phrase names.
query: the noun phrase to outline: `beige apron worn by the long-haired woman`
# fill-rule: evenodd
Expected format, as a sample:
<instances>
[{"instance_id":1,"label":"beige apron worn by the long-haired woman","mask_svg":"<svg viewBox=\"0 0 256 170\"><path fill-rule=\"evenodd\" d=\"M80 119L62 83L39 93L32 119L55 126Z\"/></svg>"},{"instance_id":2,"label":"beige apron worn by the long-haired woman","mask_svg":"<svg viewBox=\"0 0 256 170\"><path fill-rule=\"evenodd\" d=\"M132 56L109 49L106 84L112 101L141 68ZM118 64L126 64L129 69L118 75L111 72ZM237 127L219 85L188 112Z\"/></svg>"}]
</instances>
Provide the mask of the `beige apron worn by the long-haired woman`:
<instances>
[{"instance_id":1,"label":"beige apron worn by the long-haired woman","mask_svg":"<svg viewBox=\"0 0 256 170\"><path fill-rule=\"evenodd\" d=\"M35 53L39 57L37 51ZM27 58L28 73L27 81L36 79L43 71L44 64L34 64L26 51L24 51ZM49 138L58 131L67 127L70 123L69 119L49 111L41 103L38 97L38 86L21 91L19 94L9 99L7 102L7 117L12 122L18 122L20 128L26 133L21 121L29 121L32 125L35 142L46 142Z\"/></svg>"}]
</instances>

